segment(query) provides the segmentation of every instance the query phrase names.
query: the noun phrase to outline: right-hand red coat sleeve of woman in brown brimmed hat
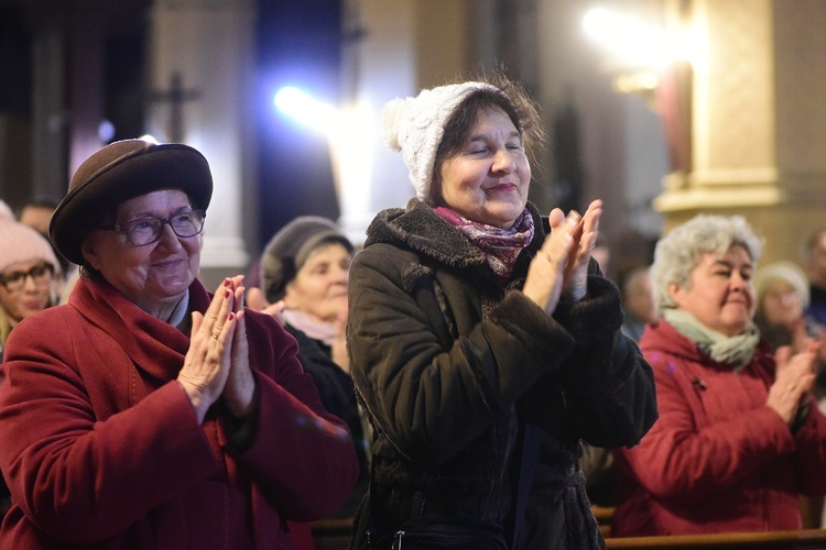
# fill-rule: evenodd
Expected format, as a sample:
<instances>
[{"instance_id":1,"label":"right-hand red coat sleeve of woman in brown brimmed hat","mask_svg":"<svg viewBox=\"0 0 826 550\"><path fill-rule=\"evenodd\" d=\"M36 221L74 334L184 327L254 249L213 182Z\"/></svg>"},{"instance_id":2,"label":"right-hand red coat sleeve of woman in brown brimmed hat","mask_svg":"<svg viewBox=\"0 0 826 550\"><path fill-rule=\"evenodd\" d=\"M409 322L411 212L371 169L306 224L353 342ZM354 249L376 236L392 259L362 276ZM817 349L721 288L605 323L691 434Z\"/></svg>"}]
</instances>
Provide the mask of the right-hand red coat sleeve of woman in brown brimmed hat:
<instances>
[{"instance_id":1,"label":"right-hand red coat sleeve of woman in brown brimmed hat","mask_svg":"<svg viewBox=\"0 0 826 550\"><path fill-rule=\"evenodd\" d=\"M238 460L285 518L323 518L356 484L352 439L345 422L322 406L296 359L295 339L272 317L248 316L251 361L259 365L259 415L252 443Z\"/></svg>"}]
</instances>

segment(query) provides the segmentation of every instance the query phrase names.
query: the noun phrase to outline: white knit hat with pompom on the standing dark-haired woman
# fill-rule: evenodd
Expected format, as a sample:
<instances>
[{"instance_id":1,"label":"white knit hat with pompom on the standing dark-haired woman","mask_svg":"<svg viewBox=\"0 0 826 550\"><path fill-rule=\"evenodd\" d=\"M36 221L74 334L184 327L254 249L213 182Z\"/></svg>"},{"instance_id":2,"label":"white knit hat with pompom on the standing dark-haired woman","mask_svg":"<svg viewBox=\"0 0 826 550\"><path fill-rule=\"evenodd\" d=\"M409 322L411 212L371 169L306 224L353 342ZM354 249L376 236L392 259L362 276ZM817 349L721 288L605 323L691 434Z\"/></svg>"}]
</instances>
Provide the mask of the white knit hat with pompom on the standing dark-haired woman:
<instances>
[{"instance_id":1,"label":"white knit hat with pompom on the standing dark-haired woman","mask_svg":"<svg viewBox=\"0 0 826 550\"><path fill-rule=\"evenodd\" d=\"M483 82L452 84L422 90L414 98L396 98L384 106L381 113L384 141L390 148L402 153L410 183L421 200L431 198L433 164L447 120L468 92L481 89L498 91Z\"/></svg>"}]
</instances>

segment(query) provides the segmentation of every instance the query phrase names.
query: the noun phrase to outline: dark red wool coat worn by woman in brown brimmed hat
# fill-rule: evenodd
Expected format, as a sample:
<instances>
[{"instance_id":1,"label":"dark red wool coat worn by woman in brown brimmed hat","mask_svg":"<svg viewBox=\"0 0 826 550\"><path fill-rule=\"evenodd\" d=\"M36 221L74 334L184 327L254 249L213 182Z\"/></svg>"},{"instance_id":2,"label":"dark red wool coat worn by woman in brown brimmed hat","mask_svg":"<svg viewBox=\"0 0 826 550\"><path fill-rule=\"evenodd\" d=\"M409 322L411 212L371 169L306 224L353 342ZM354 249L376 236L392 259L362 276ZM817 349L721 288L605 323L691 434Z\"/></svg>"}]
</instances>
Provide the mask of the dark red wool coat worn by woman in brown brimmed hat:
<instances>
[{"instance_id":1,"label":"dark red wool coat worn by woman in brown brimmed hat","mask_svg":"<svg viewBox=\"0 0 826 550\"><path fill-rule=\"evenodd\" d=\"M191 309L210 296L197 280ZM198 425L175 377L188 334L112 287L12 332L0 376L0 466L15 504L0 548L292 548L286 520L333 513L358 474L343 421L323 409L270 316L246 312L259 415L230 442L218 407Z\"/></svg>"}]
</instances>

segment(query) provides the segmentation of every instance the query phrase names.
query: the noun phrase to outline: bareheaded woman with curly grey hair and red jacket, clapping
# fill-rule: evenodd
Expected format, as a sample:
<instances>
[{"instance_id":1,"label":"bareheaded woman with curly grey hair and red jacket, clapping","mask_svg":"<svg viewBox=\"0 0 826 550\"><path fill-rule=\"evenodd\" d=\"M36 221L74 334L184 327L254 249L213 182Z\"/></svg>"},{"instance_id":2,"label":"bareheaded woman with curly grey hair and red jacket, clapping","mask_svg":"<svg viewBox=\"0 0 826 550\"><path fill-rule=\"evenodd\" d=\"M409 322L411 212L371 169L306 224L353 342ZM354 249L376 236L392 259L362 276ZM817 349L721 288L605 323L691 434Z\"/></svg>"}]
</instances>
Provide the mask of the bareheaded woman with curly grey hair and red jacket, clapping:
<instances>
[{"instance_id":1,"label":"bareheaded woman with curly grey hair and red jacket, clapping","mask_svg":"<svg viewBox=\"0 0 826 550\"><path fill-rule=\"evenodd\" d=\"M617 450L616 536L800 529L798 492L826 493L816 344L776 355L754 326L762 240L741 217L697 216L656 245L662 319L640 341L660 419Z\"/></svg>"}]
</instances>

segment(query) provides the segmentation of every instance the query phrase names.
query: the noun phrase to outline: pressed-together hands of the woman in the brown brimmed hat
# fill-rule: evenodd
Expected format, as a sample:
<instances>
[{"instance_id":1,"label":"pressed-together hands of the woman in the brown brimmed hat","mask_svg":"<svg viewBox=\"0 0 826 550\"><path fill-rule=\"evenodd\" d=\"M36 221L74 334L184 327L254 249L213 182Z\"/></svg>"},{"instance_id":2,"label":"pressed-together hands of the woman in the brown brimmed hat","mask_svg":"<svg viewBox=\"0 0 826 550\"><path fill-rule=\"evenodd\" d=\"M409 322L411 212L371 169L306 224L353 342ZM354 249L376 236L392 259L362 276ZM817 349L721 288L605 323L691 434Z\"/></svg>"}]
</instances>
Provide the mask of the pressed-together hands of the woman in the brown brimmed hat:
<instances>
[{"instance_id":1,"label":"pressed-together hands of the woman in the brown brimmed hat","mask_svg":"<svg viewBox=\"0 0 826 550\"><path fill-rule=\"evenodd\" d=\"M206 314L192 314L189 350L177 381L199 422L221 396L236 417L243 418L252 409L256 380L249 362L243 292L242 275L228 277Z\"/></svg>"}]
</instances>

